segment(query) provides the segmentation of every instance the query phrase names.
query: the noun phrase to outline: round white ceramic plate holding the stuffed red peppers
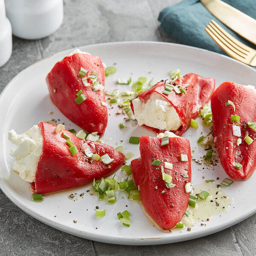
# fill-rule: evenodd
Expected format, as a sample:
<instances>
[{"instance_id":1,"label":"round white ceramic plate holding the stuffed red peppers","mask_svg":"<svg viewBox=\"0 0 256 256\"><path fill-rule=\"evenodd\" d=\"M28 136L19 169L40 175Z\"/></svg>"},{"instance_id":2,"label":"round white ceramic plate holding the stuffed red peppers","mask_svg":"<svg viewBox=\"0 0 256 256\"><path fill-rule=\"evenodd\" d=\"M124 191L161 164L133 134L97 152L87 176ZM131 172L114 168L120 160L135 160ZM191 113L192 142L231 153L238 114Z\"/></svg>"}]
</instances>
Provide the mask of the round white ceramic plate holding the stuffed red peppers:
<instances>
[{"instance_id":1,"label":"round white ceramic plate holding the stuffed red peppers","mask_svg":"<svg viewBox=\"0 0 256 256\"><path fill-rule=\"evenodd\" d=\"M179 68L183 75L197 73L204 77L214 77L216 85L224 81L234 81L240 84L254 84L256 71L231 58L207 50L169 43L157 42L124 42L96 44L80 48L82 51L98 55L107 66L115 64L116 73L106 78L106 88L127 90L127 85L117 85L116 78L137 80L139 76L146 76L148 80L154 77L156 81L168 78L169 70ZM64 122L67 128L76 125L65 118L49 100L45 77L57 61L72 50L57 53L45 58L20 72L6 86L0 96L0 188L18 207L38 220L64 232L86 239L114 243L114 244L165 244L206 236L223 230L242 221L256 212L256 205L251 204L251 197L255 194L256 175L246 181L237 181L223 191L234 199L234 203L226 213L212 216L206 226L200 222L191 231L173 230L163 233L153 227L145 216L140 203L129 201L125 194L119 192L117 202L108 205L98 201L96 195L90 195L90 184L65 192L58 192L44 196L44 202L35 203L31 199L28 183L22 181L12 172L13 159L9 152L13 145L8 141L8 131L15 129L17 133L27 131L32 125L51 118ZM140 128L136 122L127 122L128 129L120 130L118 124L125 122L124 116L116 115L117 106L108 106L110 113L108 127L103 140L116 147L122 145L125 151L133 151L139 157L139 145L129 144L130 136L153 135ZM50 115L49 112L53 111ZM191 142L195 157L203 156L204 150L198 147L196 141L208 129L204 129L198 118L200 128L189 128L183 136ZM123 142L120 141L123 140ZM128 162L129 163L129 162ZM192 162L192 183L202 183L205 179L216 179L219 182L227 177L221 166L207 168ZM90 190L90 192L87 192ZM84 192L84 196L80 194ZM69 195L76 193L77 200L71 200ZM106 209L104 218L95 218L95 207ZM128 209L131 212L131 227L122 226L117 212ZM74 223L73 220L77 222Z\"/></svg>"}]
</instances>

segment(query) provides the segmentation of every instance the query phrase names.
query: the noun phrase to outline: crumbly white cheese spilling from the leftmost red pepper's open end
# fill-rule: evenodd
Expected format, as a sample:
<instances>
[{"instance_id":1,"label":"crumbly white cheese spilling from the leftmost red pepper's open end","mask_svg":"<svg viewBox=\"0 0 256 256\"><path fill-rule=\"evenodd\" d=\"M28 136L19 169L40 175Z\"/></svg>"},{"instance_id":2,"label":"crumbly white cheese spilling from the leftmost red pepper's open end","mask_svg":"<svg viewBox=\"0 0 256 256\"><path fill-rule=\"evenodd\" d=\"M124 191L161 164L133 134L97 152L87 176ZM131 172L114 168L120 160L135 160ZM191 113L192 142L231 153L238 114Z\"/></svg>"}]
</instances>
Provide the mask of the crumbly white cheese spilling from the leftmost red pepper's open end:
<instances>
[{"instance_id":1,"label":"crumbly white cheese spilling from the leftmost red pepper's open end","mask_svg":"<svg viewBox=\"0 0 256 256\"><path fill-rule=\"evenodd\" d=\"M8 139L15 144L11 156L15 158L12 169L19 173L23 180L35 182L35 172L42 154L43 137L38 125L34 125L24 134L9 131Z\"/></svg>"}]
</instances>

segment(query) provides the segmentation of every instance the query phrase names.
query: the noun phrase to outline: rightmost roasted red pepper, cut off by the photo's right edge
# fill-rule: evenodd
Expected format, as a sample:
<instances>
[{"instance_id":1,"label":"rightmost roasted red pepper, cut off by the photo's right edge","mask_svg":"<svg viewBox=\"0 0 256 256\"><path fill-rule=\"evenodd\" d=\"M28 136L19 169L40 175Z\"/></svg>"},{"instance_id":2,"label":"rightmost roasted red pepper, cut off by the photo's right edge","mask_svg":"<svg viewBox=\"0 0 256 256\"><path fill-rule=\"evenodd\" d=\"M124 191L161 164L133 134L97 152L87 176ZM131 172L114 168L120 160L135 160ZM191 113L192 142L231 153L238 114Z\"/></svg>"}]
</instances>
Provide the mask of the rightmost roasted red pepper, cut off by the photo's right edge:
<instances>
[{"instance_id":1,"label":"rightmost roasted red pepper, cut off by the photo's right edge","mask_svg":"<svg viewBox=\"0 0 256 256\"><path fill-rule=\"evenodd\" d=\"M233 103L230 105L228 101ZM248 125L248 122L256 122L256 93L243 85L224 82L212 94L211 108L212 129L221 165L232 179L246 180L256 168L256 136ZM231 121L232 115L240 116L240 121ZM235 128L241 131L241 136L233 134L233 125L239 127ZM253 140L250 145L244 140L247 132L247 140Z\"/></svg>"}]
</instances>

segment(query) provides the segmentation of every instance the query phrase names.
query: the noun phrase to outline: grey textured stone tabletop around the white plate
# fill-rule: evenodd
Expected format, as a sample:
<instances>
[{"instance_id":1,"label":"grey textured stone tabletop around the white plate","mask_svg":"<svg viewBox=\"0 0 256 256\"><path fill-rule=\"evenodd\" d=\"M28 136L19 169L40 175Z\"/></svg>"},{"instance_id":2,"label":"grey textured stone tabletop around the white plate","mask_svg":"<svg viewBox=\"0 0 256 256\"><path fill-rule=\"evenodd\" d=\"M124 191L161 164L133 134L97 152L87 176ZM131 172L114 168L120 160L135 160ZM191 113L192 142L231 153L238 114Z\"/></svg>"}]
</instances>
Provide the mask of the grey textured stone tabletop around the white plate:
<instances>
[{"instance_id":1,"label":"grey textured stone tabletop around the white plate","mask_svg":"<svg viewBox=\"0 0 256 256\"><path fill-rule=\"evenodd\" d=\"M157 17L180 0L64 0L64 22L47 38L13 37L13 52L0 68L0 92L21 70L65 49L113 41L174 42L159 28ZM255 199L252 198L255 202ZM82 239L27 215L0 191L0 255L256 255L256 215L221 232L175 244L124 246Z\"/></svg>"}]
</instances>

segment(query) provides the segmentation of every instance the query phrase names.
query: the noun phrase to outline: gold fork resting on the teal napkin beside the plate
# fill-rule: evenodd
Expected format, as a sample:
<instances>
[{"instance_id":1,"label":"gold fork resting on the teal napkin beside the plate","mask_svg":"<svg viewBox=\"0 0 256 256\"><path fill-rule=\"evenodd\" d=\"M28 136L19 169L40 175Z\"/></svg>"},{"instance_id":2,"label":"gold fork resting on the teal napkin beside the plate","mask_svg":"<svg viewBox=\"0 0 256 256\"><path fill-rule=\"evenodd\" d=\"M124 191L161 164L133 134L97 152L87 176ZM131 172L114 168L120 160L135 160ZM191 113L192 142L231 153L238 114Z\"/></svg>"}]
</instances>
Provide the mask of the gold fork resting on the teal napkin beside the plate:
<instances>
[{"instance_id":1,"label":"gold fork resting on the teal napkin beside the plate","mask_svg":"<svg viewBox=\"0 0 256 256\"><path fill-rule=\"evenodd\" d=\"M205 28L209 36L218 44L221 49L247 65L256 67L256 50L242 44L214 20L208 23Z\"/></svg>"}]
</instances>

